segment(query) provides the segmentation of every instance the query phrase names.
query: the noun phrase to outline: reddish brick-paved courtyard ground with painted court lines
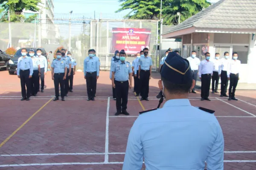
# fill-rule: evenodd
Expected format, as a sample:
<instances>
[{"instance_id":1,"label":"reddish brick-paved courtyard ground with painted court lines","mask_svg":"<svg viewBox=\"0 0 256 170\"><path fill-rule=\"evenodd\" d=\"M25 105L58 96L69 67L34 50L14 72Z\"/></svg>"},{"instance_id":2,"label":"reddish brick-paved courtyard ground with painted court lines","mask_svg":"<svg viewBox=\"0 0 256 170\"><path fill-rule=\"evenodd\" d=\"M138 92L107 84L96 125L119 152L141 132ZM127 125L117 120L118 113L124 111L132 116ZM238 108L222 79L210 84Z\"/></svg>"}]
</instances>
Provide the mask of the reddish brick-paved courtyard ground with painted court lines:
<instances>
[{"instance_id":1,"label":"reddish brick-paved courtyard ground with painted court lines","mask_svg":"<svg viewBox=\"0 0 256 170\"><path fill-rule=\"evenodd\" d=\"M9 75L7 71L0 71L0 77L7 80L0 82L0 142L3 142L55 94L50 72L46 75L45 92L38 93L38 96L32 97L29 102L20 101L20 82L17 76ZM127 109L130 116L116 117L115 101L110 98L108 103L108 97L112 96L109 72L100 72L97 97L94 102L86 101L87 92L83 73L77 72L74 92L69 93L65 102L50 101L0 147L0 170L122 169L128 133L136 116L143 108L147 110L158 105L155 96L159 91L157 88L159 78L158 74L152 76L150 100L142 101L142 106L134 96L132 88L129 91ZM256 115L256 91L237 91L236 97L240 101L228 101L227 98L219 97L219 94L210 94L209 97L212 99L210 102L200 101L200 90L197 92L197 94L189 94L190 102L194 106L216 111L215 116L224 133L225 151L249 151L249 153L225 153L225 161L235 161L225 162L224 169L256 170L256 117L253 117L253 114ZM108 126L106 126L107 111ZM107 140L106 134L108 134ZM106 141L108 143L106 151L109 154L105 154ZM236 162L236 160L246 162ZM254 162L250 162L253 160ZM104 161L108 163L103 164ZM70 162L84 164L63 165ZM58 163L62 164L56 165ZM9 167L1 167L6 164ZM20 167L17 164L28 166ZM44 165L38 166L38 164Z\"/></svg>"}]
</instances>

